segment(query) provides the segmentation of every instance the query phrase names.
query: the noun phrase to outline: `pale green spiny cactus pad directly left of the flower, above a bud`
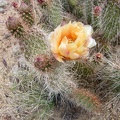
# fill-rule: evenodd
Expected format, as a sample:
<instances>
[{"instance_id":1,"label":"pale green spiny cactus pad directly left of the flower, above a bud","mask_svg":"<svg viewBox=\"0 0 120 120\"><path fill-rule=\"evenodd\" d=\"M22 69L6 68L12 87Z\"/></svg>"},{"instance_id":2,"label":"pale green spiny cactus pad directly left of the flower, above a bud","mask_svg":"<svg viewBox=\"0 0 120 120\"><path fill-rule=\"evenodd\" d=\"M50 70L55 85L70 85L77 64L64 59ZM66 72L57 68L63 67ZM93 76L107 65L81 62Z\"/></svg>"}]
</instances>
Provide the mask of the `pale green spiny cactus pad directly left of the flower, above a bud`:
<instances>
[{"instance_id":1,"label":"pale green spiny cactus pad directly left of the flower, above a bud","mask_svg":"<svg viewBox=\"0 0 120 120\"><path fill-rule=\"evenodd\" d=\"M25 53L25 58L33 61L34 57L38 54L46 53L47 45L42 35L31 33L21 41L21 48Z\"/></svg>"}]
</instances>

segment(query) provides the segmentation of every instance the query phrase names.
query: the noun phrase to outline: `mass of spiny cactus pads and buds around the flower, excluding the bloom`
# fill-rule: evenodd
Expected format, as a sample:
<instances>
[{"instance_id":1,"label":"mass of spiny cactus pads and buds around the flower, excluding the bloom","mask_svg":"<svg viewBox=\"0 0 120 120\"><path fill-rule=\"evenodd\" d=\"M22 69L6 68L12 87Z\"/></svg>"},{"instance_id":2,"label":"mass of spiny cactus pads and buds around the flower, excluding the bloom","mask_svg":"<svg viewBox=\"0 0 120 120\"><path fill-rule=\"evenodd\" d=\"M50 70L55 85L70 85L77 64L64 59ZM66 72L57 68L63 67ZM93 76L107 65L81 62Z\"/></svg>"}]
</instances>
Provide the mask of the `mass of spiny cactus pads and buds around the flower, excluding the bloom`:
<instances>
[{"instance_id":1,"label":"mass of spiny cactus pads and buds around the flower, excluding the bloom","mask_svg":"<svg viewBox=\"0 0 120 120\"><path fill-rule=\"evenodd\" d=\"M120 66L111 69L113 65L117 66L118 63L113 61L112 65L109 60L112 55L108 57L101 51L103 45L112 44L120 32L120 6L118 2L36 0L36 3L43 12L42 17L47 17L42 22L42 17L40 18L40 24L44 24L44 26L39 29L44 31L43 33L37 34L39 31L36 33L31 28L35 23L31 0L23 0L20 6L13 3L14 8L20 14L21 21L19 18L10 16L6 22L8 30L15 37L25 36L20 38L25 58L24 63L20 61L21 66L15 65L12 70L12 75L15 78L13 91L18 92L15 93L18 97L16 104L21 104L19 105L19 114L23 114L26 120L47 120L55 105L59 101L66 100L71 104L77 103L77 106L88 112L92 111L97 114L97 111L100 113L105 101L109 102L111 99L109 95L114 94L115 97L120 93ZM62 64L51 55L46 39L48 33L45 31L46 29L51 31L60 24L64 24L64 21L67 22L64 12L68 16L72 14L73 20L75 18L84 24L93 25L98 49L93 49L94 54L89 59L68 61ZM30 33L26 31L26 26L31 29ZM114 47L114 45L111 46ZM22 67L22 64L26 66ZM15 72L16 67L17 73ZM108 92L108 96L105 95Z\"/></svg>"}]
</instances>

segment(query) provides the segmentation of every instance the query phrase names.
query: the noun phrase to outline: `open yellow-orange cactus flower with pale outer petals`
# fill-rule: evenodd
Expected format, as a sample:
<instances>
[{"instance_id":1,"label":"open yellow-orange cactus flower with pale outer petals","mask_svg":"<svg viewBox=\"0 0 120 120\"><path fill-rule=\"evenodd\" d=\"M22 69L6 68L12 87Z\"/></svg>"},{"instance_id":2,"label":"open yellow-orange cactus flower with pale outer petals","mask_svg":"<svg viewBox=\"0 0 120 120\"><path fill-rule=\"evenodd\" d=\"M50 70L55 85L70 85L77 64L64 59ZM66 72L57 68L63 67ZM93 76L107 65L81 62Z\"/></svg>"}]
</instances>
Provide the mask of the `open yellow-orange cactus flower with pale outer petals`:
<instances>
[{"instance_id":1,"label":"open yellow-orange cactus flower with pale outer petals","mask_svg":"<svg viewBox=\"0 0 120 120\"><path fill-rule=\"evenodd\" d=\"M59 61L85 58L89 55L89 48L96 45L91 37L93 29L81 22L69 22L58 26L49 35L51 51Z\"/></svg>"}]
</instances>

